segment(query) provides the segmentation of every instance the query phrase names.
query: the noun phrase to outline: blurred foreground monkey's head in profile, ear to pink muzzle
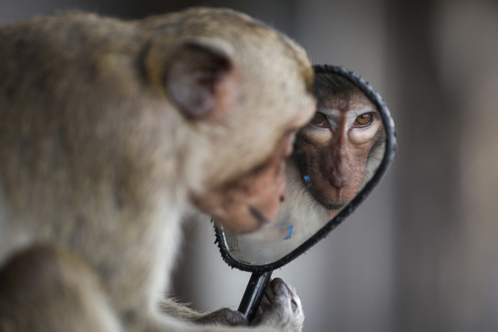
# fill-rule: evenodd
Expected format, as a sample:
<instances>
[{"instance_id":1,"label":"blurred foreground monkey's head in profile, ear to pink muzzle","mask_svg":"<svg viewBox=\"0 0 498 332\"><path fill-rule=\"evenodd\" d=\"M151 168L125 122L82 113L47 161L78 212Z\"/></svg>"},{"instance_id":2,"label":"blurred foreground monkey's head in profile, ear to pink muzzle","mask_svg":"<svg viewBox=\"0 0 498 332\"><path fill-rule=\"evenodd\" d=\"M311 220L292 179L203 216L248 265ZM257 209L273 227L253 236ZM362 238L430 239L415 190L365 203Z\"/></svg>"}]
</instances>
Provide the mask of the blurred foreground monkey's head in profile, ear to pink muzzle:
<instances>
[{"instance_id":1,"label":"blurred foreground monkey's head in profile, ear to pink muzzle","mask_svg":"<svg viewBox=\"0 0 498 332\"><path fill-rule=\"evenodd\" d=\"M187 148L196 151L183 163L192 166L183 170L191 200L234 232L276 217L285 199L286 158L316 109L305 51L252 19L242 24L247 38L223 38L230 29L211 37L204 29L180 45L165 73L169 97L191 129Z\"/></svg>"}]
</instances>

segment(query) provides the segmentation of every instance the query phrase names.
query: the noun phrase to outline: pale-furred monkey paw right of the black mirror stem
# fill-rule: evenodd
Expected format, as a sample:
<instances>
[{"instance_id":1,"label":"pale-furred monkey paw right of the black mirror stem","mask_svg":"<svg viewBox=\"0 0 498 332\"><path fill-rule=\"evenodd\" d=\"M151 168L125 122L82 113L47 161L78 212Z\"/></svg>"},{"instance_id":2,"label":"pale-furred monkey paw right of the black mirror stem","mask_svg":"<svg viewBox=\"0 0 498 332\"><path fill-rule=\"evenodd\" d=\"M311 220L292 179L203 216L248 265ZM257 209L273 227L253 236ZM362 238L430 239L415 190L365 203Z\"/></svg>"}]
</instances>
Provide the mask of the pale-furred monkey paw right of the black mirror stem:
<instances>
[{"instance_id":1,"label":"pale-furred monkey paw right of the black mirror stem","mask_svg":"<svg viewBox=\"0 0 498 332\"><path fill-rule=\"evenodd\" d=\"M294 288L282 279L268 283L251 326L272 326L282 331L300 332L304 313Z\"/></svg>"}]
</instances>

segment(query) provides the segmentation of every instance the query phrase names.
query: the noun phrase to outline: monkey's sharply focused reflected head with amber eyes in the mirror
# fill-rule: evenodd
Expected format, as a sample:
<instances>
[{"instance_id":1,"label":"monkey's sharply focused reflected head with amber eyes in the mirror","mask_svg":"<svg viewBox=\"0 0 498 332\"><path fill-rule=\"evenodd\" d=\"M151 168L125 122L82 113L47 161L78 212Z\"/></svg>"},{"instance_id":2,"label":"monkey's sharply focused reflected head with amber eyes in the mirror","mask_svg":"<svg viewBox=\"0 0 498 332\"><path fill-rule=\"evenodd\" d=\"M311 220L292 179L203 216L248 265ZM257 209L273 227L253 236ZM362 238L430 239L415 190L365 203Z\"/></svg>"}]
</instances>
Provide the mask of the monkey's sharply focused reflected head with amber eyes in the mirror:
<instances>
[{"instance_id":1,"label":"monkey's sharply focused reflected head with amber eyes in the mirror","mask_svg":"<svg viewBox=\"0 0 498 332\"><path fill-rule=\"evenodd\" d=\"M314 91L317 111L299 132L292 163L305 190L333 217L375 173L385 130L372 101L349 80L320 73Z\"/></svg>"}]
</instances>

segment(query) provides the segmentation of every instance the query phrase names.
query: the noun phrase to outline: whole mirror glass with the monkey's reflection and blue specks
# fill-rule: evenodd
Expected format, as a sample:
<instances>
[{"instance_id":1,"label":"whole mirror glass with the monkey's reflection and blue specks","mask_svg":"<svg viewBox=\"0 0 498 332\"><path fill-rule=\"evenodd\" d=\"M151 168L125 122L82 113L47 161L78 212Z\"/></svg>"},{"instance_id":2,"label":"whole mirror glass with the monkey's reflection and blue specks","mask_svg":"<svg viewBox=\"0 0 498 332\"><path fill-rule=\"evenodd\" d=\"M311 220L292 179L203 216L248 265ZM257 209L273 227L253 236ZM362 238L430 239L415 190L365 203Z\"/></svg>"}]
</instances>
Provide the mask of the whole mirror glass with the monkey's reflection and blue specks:
<instances>
[{"instance_id":1,"label":"whole mirror glass with the monkey's reflection and blue specks","mask_svg":"<svg viewBox=\"0 0 498 332\"><path fill-rule=\"evenodd\" d=\"M276 221L248 234L223 233L228 254L265 265L316 234L365 187L385 152L375 104L349 79L317 73L317 112L296 138L287 165L287 198Z\"/></svg>"}]
</instances>

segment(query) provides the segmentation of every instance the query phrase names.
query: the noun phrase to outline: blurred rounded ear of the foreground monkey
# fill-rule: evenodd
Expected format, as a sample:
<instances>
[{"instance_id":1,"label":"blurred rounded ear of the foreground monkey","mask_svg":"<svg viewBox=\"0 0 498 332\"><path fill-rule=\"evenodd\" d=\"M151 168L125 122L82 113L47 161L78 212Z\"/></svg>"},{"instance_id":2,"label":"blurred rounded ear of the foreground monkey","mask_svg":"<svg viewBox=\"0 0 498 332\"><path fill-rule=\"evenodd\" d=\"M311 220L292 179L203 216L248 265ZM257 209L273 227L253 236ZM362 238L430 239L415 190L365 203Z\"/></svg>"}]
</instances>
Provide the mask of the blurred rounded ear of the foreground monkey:
<instances>
[{"instance_id":1,"label":"blurred rounded ear of the foreground monkey","mask_svg":"<svg viewBox=\"0 0 498 332\"><path fill-rule=\"evenodd\" d=\"M171 101L187 117L200 119L223 112L233 88L224 84L233 71L230 45L198 38L178 46L166 69Z\"/></svg>"}]
</instances>

